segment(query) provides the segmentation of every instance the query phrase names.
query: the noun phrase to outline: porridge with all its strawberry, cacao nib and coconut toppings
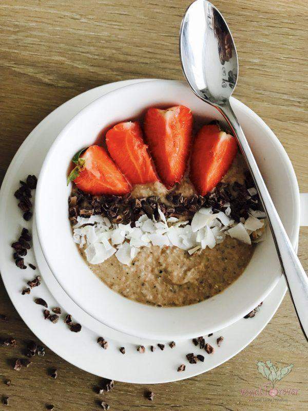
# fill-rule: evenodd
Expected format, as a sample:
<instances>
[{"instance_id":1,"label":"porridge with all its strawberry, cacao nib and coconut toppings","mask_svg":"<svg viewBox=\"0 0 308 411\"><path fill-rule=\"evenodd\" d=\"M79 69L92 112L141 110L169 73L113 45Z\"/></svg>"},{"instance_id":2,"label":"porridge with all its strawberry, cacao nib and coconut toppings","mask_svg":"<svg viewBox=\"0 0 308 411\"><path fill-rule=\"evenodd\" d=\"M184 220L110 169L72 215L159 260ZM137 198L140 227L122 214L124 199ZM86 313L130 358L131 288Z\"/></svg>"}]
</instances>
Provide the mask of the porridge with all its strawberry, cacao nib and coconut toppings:
<instances>
[{"instance_id":1,"label":"porridge with all its strawberry, cacao nib and coconut toppings","mask_svg":"<svg viewBox=\"0 0 308 411\"><path fill-rule=\"evenodd\" d=\"M117 124L109 154L90 146L74 157L73 239L111 290L144 304L195 304L242 274L265 214L235 139L217 124L192 137L189 109L150 108L143 130Z\"/></svg>"}]
</instances>

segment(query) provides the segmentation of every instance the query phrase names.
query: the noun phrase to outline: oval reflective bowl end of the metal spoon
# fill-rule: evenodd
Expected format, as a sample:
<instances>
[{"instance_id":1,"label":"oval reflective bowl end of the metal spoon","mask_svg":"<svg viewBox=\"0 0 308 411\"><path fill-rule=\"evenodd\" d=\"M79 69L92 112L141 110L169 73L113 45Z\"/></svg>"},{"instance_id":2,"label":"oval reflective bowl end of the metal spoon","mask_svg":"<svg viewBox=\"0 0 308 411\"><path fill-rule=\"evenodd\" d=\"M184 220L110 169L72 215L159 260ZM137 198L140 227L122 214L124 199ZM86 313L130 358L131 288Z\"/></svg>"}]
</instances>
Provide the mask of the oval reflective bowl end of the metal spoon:
<instances>
[{"instance_id":1,"label":"oval reflective bowl end of the metal spoon","mask_svg":"<svg viewBox=\"0 0 308 411\"><path fill-rule=\"evenodd\" d=\"M229 28L209 2L192 3L180 31L181 63L186 80L198 97L225 103L238 79L238 58Z\"/></svg>"}]
</instances>

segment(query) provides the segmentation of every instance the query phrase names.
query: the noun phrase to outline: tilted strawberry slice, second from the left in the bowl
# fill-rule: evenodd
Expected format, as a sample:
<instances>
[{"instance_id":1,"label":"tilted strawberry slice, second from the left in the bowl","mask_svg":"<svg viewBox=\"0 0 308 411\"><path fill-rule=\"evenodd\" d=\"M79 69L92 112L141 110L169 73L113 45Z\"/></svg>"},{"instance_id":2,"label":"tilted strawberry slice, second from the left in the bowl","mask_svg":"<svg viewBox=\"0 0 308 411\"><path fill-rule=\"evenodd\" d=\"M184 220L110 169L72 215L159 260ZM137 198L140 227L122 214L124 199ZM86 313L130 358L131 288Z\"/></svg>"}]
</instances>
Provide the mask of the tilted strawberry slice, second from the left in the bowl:
<instances>
[{"instance_id":1,"label":"tilted strawberry slice, second from the left in the bowl","mask_svg":"<svg viewBox=\"0 0 308 411\"><path fill-rule=\"evenodd\" d=\"M158 181L138 122L115 125L106 134L110 156L131 184Z\"/></svg>"}]
</instances>

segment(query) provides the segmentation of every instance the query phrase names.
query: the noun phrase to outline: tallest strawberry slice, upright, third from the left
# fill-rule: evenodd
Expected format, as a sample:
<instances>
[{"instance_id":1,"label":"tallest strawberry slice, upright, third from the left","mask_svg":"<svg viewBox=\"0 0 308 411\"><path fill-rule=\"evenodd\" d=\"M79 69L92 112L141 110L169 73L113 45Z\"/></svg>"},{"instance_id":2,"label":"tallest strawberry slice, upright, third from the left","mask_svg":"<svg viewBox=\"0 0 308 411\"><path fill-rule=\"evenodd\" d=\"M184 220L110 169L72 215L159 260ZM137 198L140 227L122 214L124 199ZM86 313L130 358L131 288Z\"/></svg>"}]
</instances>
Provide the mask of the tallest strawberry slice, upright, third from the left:
<instances>
[{"instance_id":1,"label":"tallest strawberry slice, upright, third from the left","mask_svg":"<svg viewBox=\"0 0 308 411\"><path fill-rule=\"evenodd\" d=\"M145 114L146 142L156 170L167 189L180 182L191 144L192 113L184 106L149 108Z\"/></svg>"}]
</instances>

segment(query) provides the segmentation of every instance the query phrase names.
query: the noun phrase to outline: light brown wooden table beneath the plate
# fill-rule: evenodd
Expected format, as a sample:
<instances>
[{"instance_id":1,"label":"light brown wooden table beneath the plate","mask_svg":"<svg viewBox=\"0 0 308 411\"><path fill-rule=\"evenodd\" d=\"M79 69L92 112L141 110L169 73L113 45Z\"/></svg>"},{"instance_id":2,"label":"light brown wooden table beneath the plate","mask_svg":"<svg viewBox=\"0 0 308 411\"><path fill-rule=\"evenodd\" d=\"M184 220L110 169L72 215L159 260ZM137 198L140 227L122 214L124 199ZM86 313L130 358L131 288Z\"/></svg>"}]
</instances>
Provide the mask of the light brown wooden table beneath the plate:
<instances>
[{"instance_id":1,"label":"light brown wooden table beneath the plate","mask_svg":"<svg viewBox=\"0 0 308 411\"><path fill-rule=\"evenodd\" d=\"M301 192L308 192L307 88L308 41L303 0L217 0L234 34L240 59L236 97L273 129L291 158ZM17 148L33 127L66 100L92 87L132 78L182 79L178 34L189 0L2 0L0 3L0 173L1 180ZM308 229L301 229L299 256L308 268ZM20 343L35 337L14 310L0 284L0 336ZM251 320L253 321L253 320ZM102 409L94 393L99 378L81 371L49 349L27 372L12 370L21 348L0 350L0 396L7 409ZM282 402L249 401L240 390L264 381L257 360L294 364L283 380L298 395ZM165 385L118 383L108 393L113 410L156 408L190 410L307 409L307 344L290 296L259 337L235 358L204 375ZM61 377L47 378L50 367ZM4 384L6 378L12 385ZM155 391L155 400L144 390ZM287 402L285 401L287 400ZM0 405L0 409L6 408Z\"/></svg>"}]
</instances>

